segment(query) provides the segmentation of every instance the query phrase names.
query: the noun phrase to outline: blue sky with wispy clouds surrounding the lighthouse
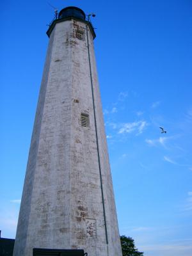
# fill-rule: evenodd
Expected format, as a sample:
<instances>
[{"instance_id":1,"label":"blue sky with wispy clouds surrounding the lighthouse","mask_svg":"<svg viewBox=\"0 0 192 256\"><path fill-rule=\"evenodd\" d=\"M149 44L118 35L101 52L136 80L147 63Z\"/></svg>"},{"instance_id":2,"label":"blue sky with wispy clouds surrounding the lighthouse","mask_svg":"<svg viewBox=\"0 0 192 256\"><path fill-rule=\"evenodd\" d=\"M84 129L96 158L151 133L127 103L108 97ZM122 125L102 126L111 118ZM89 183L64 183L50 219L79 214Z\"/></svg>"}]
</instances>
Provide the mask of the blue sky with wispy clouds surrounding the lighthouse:
<instances>
[{"instance_id":1,"label":"blue sky with wispy clouds surrounding the lighthouse","mask_svg":"<svg viewBox=\"0 0 192 256\"><path fill-rule=\"evenodd\" d=\"M145 256L191 256L191 1L49 3L97 15L95 54L120 234L133 237ZM15 237L52 17L47 1L1 3L3 237Z\"/></svg>"}]
</instances>

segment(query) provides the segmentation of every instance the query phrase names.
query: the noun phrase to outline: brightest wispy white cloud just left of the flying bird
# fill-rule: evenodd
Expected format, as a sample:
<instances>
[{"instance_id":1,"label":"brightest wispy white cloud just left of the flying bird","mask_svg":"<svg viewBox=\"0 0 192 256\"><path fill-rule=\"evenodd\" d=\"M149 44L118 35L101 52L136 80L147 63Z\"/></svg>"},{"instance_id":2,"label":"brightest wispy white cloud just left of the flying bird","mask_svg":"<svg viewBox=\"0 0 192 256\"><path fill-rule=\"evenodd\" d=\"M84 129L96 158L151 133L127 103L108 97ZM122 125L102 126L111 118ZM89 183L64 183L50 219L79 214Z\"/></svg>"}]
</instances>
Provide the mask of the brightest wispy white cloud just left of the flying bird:
<instances>
[{"instance_id":1,"label":"brightest wispy white cloud just left of the flying bird","mask_svg":"<svg viewBox=\"0 0 192 256\"><path fill-rule=\"evenodd\" d=\"M147 122L145 121L126 123L122 125L118 133L122 134L122 133L131 133L131 132L137 131L138 134L141 134L143 132L143 129L145 129L146 126L147 126Z\"/></svg>"}]
</instances>

